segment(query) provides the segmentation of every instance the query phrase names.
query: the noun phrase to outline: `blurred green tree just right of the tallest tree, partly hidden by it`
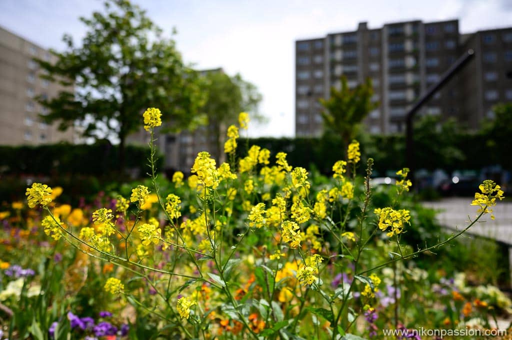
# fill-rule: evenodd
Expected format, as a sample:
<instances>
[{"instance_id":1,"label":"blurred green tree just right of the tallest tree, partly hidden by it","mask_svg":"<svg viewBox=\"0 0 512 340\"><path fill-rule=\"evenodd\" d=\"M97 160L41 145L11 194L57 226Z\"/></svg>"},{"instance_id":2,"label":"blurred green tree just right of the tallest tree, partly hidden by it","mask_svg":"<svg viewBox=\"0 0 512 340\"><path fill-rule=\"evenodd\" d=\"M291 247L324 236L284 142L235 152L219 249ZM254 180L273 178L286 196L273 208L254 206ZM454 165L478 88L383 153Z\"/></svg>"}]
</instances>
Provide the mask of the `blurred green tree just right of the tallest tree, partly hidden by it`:
<instances>
[{"instance_id":1,"label":"blurred green tree just right of the tallest tree, partly hidden by it","mask_svg":"<svg viewBox=\"0 0 512 340\"><path fill-rule=\"evenodd\" d=\"M261 120L257 108L262 95L255 85L243 80L240 74L230 77L222 70L213 70L206 72L204 77L204 91L208 99L202 110L208 118L208 132L214 135L216 141L211 154L220 160L226 128L236 123L240 112L249 111L252 119Z\"/></svg>"}]
</instances>

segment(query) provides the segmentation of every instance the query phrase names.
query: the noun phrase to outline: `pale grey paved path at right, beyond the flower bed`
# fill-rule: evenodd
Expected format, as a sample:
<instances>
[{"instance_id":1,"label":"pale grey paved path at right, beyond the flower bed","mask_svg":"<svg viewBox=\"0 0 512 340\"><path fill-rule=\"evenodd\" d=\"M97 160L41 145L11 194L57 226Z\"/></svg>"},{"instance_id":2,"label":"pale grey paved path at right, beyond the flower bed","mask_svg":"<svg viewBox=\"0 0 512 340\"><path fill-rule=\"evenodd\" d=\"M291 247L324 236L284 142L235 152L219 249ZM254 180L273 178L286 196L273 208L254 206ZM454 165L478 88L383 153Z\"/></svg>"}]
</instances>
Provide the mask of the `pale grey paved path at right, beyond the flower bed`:
<instances>
[{"instance_id":1,"label":"pale grey paved path at right, beyond the flower bed","mask_svg":"<svg viewBox=\"0 0 512 340\"><path fill-rule=\"evenodd\" d=\"M438 209L438 221L450 229L459 230L468 224L468 216L476 217L476 206L471 206L471 197L445 198L435 202L423 202L426 207ZM481 223L476 223L468 233L493 238L512 245L512 202L498 201L494 207L495 220L484 215ZM485 222L483 222L485 221Z\"/></svg>"}]
</instances>

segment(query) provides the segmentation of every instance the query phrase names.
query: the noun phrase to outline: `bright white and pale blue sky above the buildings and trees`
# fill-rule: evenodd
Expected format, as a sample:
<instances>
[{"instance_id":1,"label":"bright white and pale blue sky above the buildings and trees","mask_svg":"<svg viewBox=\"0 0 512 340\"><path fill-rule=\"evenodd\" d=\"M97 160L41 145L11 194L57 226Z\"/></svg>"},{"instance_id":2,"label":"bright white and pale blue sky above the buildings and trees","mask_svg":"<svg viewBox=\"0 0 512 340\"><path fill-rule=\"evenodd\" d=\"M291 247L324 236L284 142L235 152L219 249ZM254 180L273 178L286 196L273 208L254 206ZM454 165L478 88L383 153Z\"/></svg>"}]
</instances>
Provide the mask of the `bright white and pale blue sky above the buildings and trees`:
<instances>
[{"instance_id":1,"label":"bright white and pale blue sky above the buildings and trees","mask_svg":"<svg viewBox=\"0 0 512 340\"><path fill-rule=\"evenodd\" d=\"M358 22L379 28L394 21L459 19L461 33L512 26L512 0L132 0L196 69L222 67L255 84L263 125L249 135L293 136L294 41L354 31ZM0 0L0 26L44 48L65 49L62 35L80 41L79 16L101 10L99 0Z\"/></svg>"}]
</instances>

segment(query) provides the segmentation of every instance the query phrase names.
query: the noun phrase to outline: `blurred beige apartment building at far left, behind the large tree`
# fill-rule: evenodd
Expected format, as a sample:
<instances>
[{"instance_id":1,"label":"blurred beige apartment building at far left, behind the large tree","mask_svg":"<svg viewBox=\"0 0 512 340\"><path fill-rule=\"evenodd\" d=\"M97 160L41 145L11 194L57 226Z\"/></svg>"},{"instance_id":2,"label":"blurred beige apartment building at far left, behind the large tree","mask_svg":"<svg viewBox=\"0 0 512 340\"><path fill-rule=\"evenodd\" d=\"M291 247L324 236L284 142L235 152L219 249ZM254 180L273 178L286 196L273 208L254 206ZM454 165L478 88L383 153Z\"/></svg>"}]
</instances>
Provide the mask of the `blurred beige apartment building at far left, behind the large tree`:
<instances>
[{"instance_id":1,"label":"blurred beige apartment building at far left, behind the large tree","mask_svg":"<svg viewBox=\"0 0 512 340\"><path fill-rule=\"evenodd\" d=\"M57 96L61 85L39 78L33 58L53 60L44 48L0 27L0 145L73 142L73 129L58 131L43 123L47 111L36 96Z\"/></svg>"}]
</instances>

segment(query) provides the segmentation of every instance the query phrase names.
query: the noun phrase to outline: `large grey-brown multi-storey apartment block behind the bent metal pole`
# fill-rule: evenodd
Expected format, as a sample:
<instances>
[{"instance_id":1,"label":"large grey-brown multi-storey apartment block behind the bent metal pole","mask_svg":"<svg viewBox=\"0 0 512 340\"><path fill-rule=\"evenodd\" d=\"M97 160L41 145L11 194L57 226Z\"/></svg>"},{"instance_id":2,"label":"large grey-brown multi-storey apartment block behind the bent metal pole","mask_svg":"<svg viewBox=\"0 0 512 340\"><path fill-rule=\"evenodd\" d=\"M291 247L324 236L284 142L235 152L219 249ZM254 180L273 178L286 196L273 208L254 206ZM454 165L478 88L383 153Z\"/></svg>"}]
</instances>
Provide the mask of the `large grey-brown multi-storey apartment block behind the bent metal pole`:
<instances>
[{"instance_id":1,"label":"large grey-brown multi-storey apartment block behind the bent metal pole","mask_svg":"<svg viewBox=\"0 0 512 340\"><path fill-rule=\"evenodd\" d=\"M512 49L510 42L507 45L505 41L509 39L507 32L511 30L495 30L495 42L490 42L492 38L487 37L489 42L483 43L483 37L491 33L482 31L461 36L458 20L393 22L378 29L369 29L366 22L361 22L357 31L297 40L296 135L322 134L322 106L318 99L328 98L330 87L339 87L342 75L347 78L349 87L356 86L366 78L372 80L372 100L378 103L378 107L370 112L365 121L369 132L401 132L405 128L408 108L470 48L476 51L476 60L446 83L426 103L421 114L453 117L467 127L476 128L484 117L482 112L505 100L509 94L506 88L512 87L510 78L506 76L510 71L507 60ZM488 61L485 61L485 55ZM480 73L474 72L476 69ZM492 82L489 80L488 84L482 85L486 76L489 79L495 76L495 83L489 83ZM471 95L476 89L480 91L480 96ZM489 99L485 99L486 94Z\"/></svg>"}]
</instances>

